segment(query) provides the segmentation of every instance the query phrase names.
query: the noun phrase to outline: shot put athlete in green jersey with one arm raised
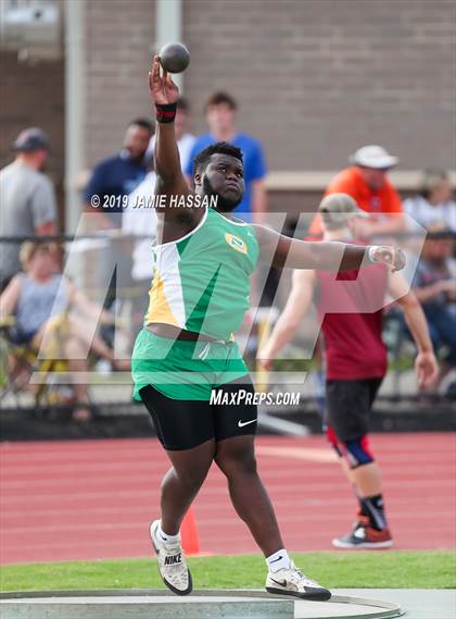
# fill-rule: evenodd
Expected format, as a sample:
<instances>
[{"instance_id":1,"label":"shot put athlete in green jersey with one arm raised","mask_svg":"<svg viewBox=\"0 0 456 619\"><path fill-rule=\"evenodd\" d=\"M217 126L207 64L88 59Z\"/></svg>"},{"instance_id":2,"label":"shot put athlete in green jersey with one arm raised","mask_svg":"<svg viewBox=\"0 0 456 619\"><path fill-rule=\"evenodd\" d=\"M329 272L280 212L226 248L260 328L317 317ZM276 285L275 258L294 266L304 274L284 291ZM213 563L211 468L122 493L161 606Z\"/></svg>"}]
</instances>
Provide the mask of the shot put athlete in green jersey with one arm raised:
<instances>
[{"instance_id":1,"label":"shot put athlete in green jersey with one arm raised","mask_svg":"<svg viewBox=\"0 0 456 619\"><path fill-rule=\"evenodd\" d=\"M178 88L162 74L159 57L149 87L157 120L155 194L166 196L166 205L155 201L161 245L154 248L150 306L132 354L132 377L135 397L149 410L172 463L162 483L161 519L150 530L161 575L176 594L190 593L179 529L215 461L227 478L235 509L266 558L266 590L328 599L330 592L304 575L284 549L256 470L256 407L246 398L237 406L212 405L211 394L253 394L232 334L249 308L250 276L258 260L335 271L373 261L398 270L404 255L391 247L294 240L235 220L231 211L244 189L242 152L228 144L212 145L195 158L198 202L182 176L176 145ZM193 206L176 207L176 196L191 196ZM203 206L204 198L214 197L216 208Z\"/></svg>"}]
</instances>

